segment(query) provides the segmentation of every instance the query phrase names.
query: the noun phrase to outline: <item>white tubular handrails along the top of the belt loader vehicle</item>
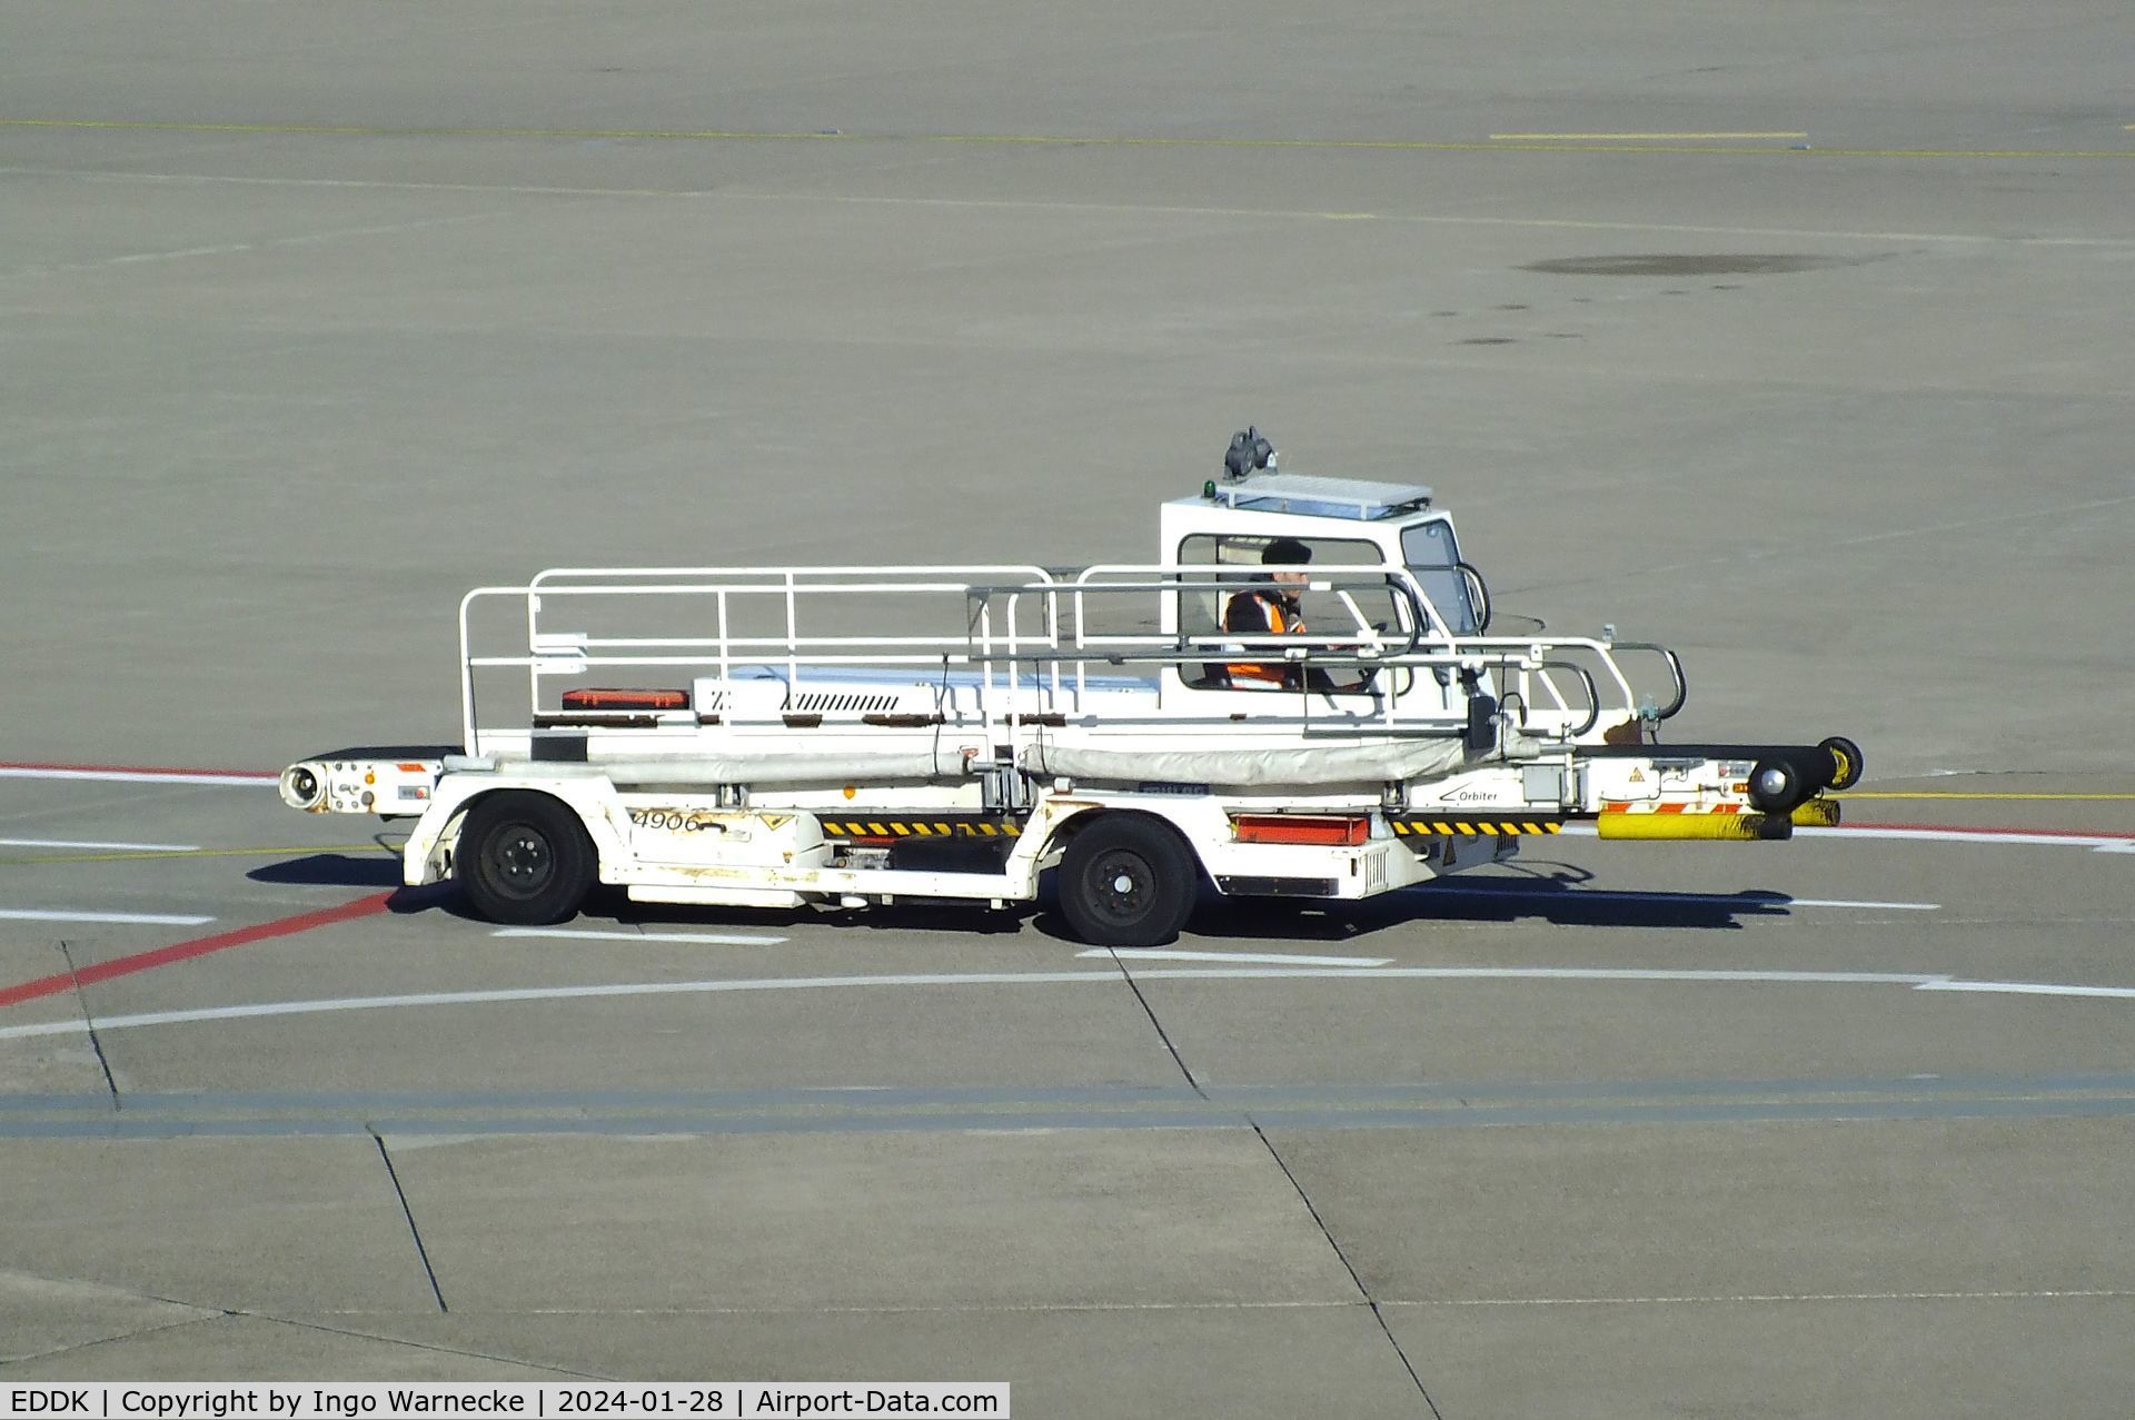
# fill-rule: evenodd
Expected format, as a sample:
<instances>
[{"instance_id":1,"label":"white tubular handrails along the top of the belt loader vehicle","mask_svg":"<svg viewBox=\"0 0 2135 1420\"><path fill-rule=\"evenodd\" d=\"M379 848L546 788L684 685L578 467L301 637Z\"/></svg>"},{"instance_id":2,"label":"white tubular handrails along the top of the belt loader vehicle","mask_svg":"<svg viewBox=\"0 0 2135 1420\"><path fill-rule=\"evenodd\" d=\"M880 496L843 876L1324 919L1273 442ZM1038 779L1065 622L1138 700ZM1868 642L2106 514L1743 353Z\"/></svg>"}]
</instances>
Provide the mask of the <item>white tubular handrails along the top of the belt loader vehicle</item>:
<instances>
[{"instance_id":1,"label":"white tubular handrails along the top of the belt loader vehicle","mask_svg":"<svg viewBox=\"0 0 2135 1420\"><path fill-rule=\"evenodd\" d=\"M557 677L583 677L591 668L698 668L700 675L732 679L754 664L779 664L790 688L803 685L813 668L939 668L978 670L978 703L974 709L991 730L1008 726L1001 741L1021 739L1033 713L1050 720L1063 694L1082 696L1091 690L1089 666L1153 666L1185 668L1208 664L1225 653L1251 651L1304 666L1360 670L1437 670L1439 685L1450 688L1448 670L1473 670L1497 677L1501 696L1514 696L1524 709L1539 711L1548 703L1548 722L1563 720L1552 735L1576 739L1593 730L1606 711L1670 717L1689 696L1682 660L1657 643L1614 641L1593 636L1458 636L1448 630L1437 606L1413 572L1396 564L1343 564L1322 568L1287 568L1309 577L1304 589L1332 594L1349 621L1337 632L1272 634L1272 632L1187 632L1181 624L1185 596L1234 596L1275 570L1270 566L1213 564L1095 564L1082 570L1046 570L1027 564L984 566L820 566L820 568L549 568L521 587L474 587L459 602L459 681L461 730L470 752L480 752L476 715L476 673L508 666L527 670L529 709L540 711L542 688ZM1369 621L1360 596L1373 602L1392 598L1392 626ZM939 611L939 600L963 598L963 626L948 632L924 628L899 634L813 632L805 626L809 609L824 609L824 596L880 598L892 613L897 598L918 598L922 613ZM1149 632L1110 621L1106 611L1121 598L1155 596L1159 624L1172 630ZM476 653L476 602L521 598L525 613L525 653ZM711 598L713 628L709 632L660 636L636 634L615 626L617 613L589 615L570 630L547 630L557 624L566 602L572 606L628 606L628 598L666 600L675 611L668 619L690 619L690 604ZM623 600L617 600L623 598ZM1166 600L1168 598L1168 600ZM775 604L771 624L749 611ZM1375 604L1373 611L1381 606ZM937 615L929 613L929 615ZM781 615L784 613L784 615ZM737 615L743 617L737 624ZM1198 611L1196 615L1206 615ZM784 619L784 628L777 621ZM1339 621L1341 617L1334 617ZM495 626L489 621L487 626ZM658 624L655 624L658 626ZM950 624L954 626L954 624ZM743 634L747 630L749 634ZM493 641L489 641L493 645ZM1623 653L1661 658L1670 679L1667 705L1659 711L1638 703L1638 690L1625 673ZM1023 666L1035 673L1027 677ZM1006 673L1006 677L1001 675ZM1559 683L1563 677L1563 683ZM1597 679L1599 677L1599 679ZM1601 694L1601 679L1610 696ZM1172 683L1172 681L1166 681ZM1383 709L1383 724L1420 720L1445 724L1458 711L1458 692L1439 690L1428 679L1401 681L1373 677L1351 688L1373 694ZM1576 690L1573 690L1576 685ZM1196 688L1198 690L1198 688ZM1351 694L1351 690L1334 694ZM1170 694L1170 692L1166 692ZM1576 703L1584 696L1584 707ZM1620 696L1623 705L1616 707ZM1309 696L1307 696L1309 700ZM1225 703L1221 720L1234 713ZM1164 700L1164 720L1196 722L1191 700L1172 707ZM1298 715L1307 713L1300 703ZM1217 722L1211 707L1208 722ZM1260 715L1255 715L1258 720ZM1381 711L1373 711L1379 720ZM493 732L493 730L491 730ZM995 737L999 739L999 737Z\"/></svg>"}]
</instances>

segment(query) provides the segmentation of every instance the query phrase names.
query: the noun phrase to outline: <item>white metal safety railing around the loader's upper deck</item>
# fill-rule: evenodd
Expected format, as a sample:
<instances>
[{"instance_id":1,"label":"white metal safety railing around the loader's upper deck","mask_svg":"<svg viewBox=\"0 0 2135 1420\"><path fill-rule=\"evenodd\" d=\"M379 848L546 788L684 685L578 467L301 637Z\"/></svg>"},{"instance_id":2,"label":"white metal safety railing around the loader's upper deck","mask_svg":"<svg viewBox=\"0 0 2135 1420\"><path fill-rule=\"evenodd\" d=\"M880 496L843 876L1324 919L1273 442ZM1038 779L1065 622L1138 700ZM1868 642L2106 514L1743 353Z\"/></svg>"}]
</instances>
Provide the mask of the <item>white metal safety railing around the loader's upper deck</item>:
<instances>
[{"instance_id":1,"label":"white metal safety railing around the loader's upper deck","mask_svg":"<svg viewBox=\"0 0 2135 1420\"><path fill-rule=\"evenodd\" d=\"M794 696L811 679L837 683L858 668L922 670L929 679L965 673L982 726L989 735L999 726L1008 741L1018 741L1033 717L1057 722L1063 705L1082 705L1093 675L1121 670L1157 679L1155 720L1230 724L1240 700L1206 698L1215 692L1196 685L1189 668L1240 660L1298 668L1292 692L1243 694L1253 696L1255 722L1294 717L1307 730L1334 720L1343 728L1443 732L1467 717L1471 694L1492 694L1529 732L1571 739L1610 713L1667 717L1687 694L1682 662L1652 643L1452 636L1401 566L1296 568L1309 577L1300 591L1319 606L1311 634L1223 630L1221 613L1204 617L1215 628L1187 626L1185 606L1221 606L1228 596L1266 587L1279 570L557 568L523 587L476 587L461 598L461 730L468 752L480 754L485 735L497 730L480 726L478 681L512 668L525 673L529 717L555 703L551 690L589 675L662 670L732 683L737 673L769 673ZM500 602L502 626L523 628L523 647L497 649L502 626L476 628L485 604ZM1155 626L1149 611L1157 613ZM1657 658L1665 688L1642 698L1625 673L1625 651ZM1358 679L1328 688L1309 670ZM525 724L510 732L523 735Z\"/></svg>"}]
</instances>

